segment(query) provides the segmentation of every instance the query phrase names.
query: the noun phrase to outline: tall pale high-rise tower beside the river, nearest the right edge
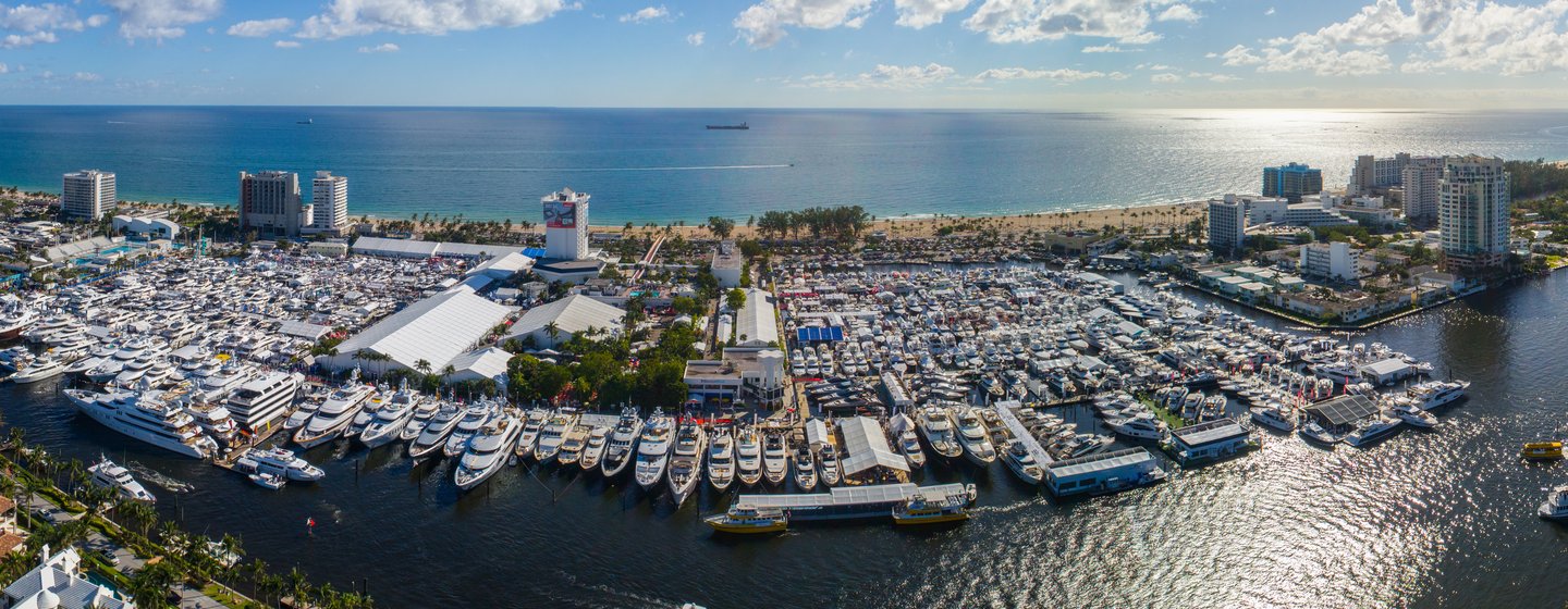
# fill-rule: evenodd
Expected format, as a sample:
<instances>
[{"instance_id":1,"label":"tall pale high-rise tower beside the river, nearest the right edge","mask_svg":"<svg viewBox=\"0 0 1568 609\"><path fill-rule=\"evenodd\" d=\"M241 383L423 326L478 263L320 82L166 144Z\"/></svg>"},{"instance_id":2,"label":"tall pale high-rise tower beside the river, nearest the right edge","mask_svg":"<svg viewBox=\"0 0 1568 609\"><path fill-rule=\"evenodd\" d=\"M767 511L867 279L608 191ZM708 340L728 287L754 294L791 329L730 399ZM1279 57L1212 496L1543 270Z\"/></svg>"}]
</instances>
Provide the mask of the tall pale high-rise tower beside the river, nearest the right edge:
<instances>
[{"instance_id":1,"label":"tall pale high-rise tower beside the river, nearest the right edge","mask_svg":"<svg viewBox=\"0 0 1568 609\"><path fill-rule=\"evenodd\" d=\"M1479 271L1508 255L1508 172L1501 158L1450 157L1438 186L1438 230L1449 268Z\"/></svg>"}]
</instances>

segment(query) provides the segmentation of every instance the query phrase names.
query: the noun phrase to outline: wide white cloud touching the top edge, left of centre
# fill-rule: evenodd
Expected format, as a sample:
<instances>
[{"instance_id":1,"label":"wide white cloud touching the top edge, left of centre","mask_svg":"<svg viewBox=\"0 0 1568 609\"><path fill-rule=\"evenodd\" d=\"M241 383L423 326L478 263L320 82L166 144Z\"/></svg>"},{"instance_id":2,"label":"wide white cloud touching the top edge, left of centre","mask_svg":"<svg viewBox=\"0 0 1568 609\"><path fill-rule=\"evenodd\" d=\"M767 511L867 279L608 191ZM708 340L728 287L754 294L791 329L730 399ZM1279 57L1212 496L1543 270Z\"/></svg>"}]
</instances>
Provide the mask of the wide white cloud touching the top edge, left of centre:
<instances>
[{"instance_id":1,"label":"wide white cloud touching the top edge, left of centre","mask_svg":"<svg viewBox=\"0 0 1568 609\"><path fill-rule=\"evenodd\" d=\"M575 8L563 0L331 0L306 19L299 38L336 39L378 31L445 34L538 23Z\"/></svg>"}]
</instances>

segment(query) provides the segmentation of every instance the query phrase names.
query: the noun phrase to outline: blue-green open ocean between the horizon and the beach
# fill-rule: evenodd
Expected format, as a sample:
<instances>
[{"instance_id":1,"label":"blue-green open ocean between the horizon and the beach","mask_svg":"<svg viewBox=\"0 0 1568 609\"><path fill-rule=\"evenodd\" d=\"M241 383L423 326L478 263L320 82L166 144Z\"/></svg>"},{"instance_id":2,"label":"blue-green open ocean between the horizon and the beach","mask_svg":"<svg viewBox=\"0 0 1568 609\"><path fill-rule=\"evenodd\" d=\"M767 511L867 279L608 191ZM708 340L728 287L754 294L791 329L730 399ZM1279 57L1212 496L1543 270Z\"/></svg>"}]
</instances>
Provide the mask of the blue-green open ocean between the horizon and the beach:
<instances>
[{"instance_id":1,"label":"blue-green open ocean between the horizon and the beach","mask_svg":"<svg viewBox=\"0 0 1568 609\"><path fill-rule=\"evenodd\" d=\"M735 122L751 128L704 128ZM1339 186L1359 153L1557 160L1568 111L0 106L0 185L25 189L97 168L127 200L232 205L240 171L296 171L309 197L328 169L350 178L354 216L538 221L539 197L571 186L593 194L594 224L696 224L1173 204L1256 193L1289 161Z\"/></svg>"}]
</instances>

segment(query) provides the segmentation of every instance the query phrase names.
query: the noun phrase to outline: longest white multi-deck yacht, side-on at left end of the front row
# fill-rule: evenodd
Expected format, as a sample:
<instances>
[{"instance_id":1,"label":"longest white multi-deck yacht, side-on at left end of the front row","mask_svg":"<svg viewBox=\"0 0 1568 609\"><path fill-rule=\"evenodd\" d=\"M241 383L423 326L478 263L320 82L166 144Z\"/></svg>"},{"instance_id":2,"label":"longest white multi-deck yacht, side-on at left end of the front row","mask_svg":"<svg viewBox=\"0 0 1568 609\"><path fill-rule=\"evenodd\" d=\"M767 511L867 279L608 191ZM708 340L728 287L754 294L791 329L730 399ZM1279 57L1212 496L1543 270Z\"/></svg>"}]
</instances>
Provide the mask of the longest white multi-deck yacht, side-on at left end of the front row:
<instances>
[{"instance_id":1,"label":"longest white multi-deck yacht, side-on at left end of the front row","mask_svg":"<svg viewBox=\"0 0 1568 609\"><path fill-rule=\"evenodd\" d=\"M191 459L218 452L218 443L201 432L185 409L171 404L179 396L141 391L94 393L66 390L71 404L105 427Z\"/></svg>"}]
</instances>

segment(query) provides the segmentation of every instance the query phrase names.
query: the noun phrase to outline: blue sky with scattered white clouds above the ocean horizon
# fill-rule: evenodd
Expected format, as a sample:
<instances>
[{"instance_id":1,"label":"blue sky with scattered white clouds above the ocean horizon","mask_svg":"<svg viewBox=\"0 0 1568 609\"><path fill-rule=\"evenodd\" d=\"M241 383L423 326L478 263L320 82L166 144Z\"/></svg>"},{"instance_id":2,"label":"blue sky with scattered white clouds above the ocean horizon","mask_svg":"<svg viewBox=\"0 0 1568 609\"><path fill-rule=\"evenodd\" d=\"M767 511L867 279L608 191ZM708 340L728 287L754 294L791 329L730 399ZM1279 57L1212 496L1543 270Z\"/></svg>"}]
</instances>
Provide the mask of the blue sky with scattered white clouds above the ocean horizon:
<instances>
[{"instance_id":1,"label":"blue sky with scattered white clouds above the ocean horizon","mask_svg":"<svg viewBox=\"0 0 1568 609\"><path fill-rule=\"evenodd\" d=\"M1549 108L1568 0L0 3L0 105Z\"/></svg>"}]
</instances>

